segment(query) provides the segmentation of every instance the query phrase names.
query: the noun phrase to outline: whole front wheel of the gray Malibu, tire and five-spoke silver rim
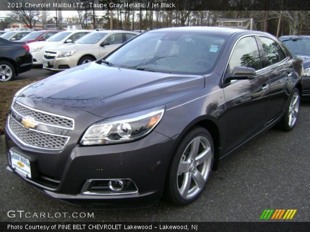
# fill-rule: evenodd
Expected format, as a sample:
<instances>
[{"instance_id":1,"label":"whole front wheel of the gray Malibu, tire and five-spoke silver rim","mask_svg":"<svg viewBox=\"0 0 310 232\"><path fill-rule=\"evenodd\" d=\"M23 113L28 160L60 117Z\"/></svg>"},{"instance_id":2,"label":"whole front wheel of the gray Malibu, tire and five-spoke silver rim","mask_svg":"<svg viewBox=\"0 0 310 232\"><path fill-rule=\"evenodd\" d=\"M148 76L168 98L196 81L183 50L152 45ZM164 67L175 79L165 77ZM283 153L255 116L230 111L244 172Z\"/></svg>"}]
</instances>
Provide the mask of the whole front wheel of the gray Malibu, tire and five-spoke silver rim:
<instances>
[{"instance_id":1,"label":"whole front wheel of the gray Malibu, tire and five-spoke silver rim","mask_svg":"<svg viewBox=\"0 0 310 232\"><path fill-rule=\"evenodd\" d=\"M213 161L214 146L209 131L202 127L188 131L171 160L165 188L167 199L176 205L196 200L207 182Z\"/></svg>"}]
</instances>

